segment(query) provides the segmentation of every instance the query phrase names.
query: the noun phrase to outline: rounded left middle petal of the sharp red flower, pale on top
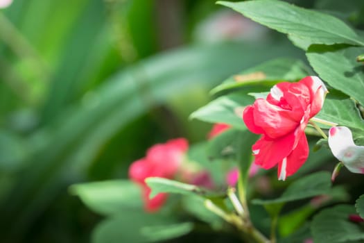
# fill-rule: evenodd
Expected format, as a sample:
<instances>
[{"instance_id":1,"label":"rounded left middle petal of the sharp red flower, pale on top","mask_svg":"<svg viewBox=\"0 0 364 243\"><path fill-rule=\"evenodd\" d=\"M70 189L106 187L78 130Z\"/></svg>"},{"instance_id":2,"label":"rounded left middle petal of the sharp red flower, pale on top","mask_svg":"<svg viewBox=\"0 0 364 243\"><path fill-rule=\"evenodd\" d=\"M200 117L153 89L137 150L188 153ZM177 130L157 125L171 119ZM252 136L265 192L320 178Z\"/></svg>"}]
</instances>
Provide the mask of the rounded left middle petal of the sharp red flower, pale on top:
<instances>
[{"instance_id":1,"label":"rounded left middle petal of the sharp red flower, pale on top","mask_svg":"<svg viewBox=\"0 0 364 243\"><path fill-rule=\"evenodd\" d=\"M300 116L300 119L302 118L302 115L272 105L264 99L257 99L254 102L255 125L263 129L264 134L273 139L295 130L300 121L300 119L295 120L297 115Z\"/></svg>"}]
</instances>

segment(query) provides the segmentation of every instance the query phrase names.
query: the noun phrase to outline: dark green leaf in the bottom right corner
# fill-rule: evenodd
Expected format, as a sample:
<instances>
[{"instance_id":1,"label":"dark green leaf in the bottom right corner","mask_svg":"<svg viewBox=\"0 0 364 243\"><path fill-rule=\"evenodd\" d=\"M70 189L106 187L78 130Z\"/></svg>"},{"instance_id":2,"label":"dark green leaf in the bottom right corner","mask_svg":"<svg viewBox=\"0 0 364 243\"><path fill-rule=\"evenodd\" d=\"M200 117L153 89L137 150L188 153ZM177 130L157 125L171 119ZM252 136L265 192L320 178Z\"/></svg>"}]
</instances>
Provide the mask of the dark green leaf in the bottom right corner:
<instances>
[{"instance_id":1,"label":"dark green leaf in the bottom right corner","mask_svg":"<svg viewBox=\"0 0 364 243\"><path fill-rule=\"evenodd\" d=\"M351 214L355 214L355 208L349 205L339 205L319 212L311 223L313 241L338 243L364 240L361 226L349 221Z\"/></svg>"}]
</instances>

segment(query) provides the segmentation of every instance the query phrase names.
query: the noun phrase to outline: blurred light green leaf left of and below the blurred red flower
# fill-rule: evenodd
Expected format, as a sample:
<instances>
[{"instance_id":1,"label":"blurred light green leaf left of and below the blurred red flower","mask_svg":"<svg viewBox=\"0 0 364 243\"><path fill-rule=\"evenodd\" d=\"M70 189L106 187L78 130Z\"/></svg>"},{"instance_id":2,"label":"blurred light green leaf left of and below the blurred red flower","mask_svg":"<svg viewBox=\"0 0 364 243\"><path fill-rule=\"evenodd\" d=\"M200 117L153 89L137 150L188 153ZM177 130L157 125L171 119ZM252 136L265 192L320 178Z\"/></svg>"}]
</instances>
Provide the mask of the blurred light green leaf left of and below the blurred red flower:
<instances>
[{"instance_id":1,"label":"blurred light green leaf left of and below the blurred red flower","mask_svg":"<svg viewBox=\"0 0 364 243\"><path fill-rule=\"evenodd\" d=\"M76 184L69 187L69 191L80 196L87 207L101 215L114 215L129 208L142 210L141 191L131 181Z\"/></svg>"}]
</instances>

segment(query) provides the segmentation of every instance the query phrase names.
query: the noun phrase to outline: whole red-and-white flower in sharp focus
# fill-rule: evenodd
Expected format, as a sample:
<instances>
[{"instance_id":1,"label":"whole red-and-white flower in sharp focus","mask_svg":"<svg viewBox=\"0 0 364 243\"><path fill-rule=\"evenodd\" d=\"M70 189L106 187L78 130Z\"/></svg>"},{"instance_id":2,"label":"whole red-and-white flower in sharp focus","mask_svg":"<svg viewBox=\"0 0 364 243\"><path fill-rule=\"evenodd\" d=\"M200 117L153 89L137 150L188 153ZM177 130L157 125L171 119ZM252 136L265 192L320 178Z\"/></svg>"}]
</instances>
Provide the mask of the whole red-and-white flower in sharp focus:
<instances>
[{"instance_id":1,"label":"whole red-and-white flower in sharp focus","mask_svg":"<svg viewBox=\"0 0 364 243\"><path fill-rule=\"evenodd\" d=\"M295 174L309 156L304 129L322 108L327 88L320 78L278 83L266 99L257 99L243 113L245 125L261 138L252 146L254 162L264 169L278 165L278 178Z\"/></svg>"}]
</instances>

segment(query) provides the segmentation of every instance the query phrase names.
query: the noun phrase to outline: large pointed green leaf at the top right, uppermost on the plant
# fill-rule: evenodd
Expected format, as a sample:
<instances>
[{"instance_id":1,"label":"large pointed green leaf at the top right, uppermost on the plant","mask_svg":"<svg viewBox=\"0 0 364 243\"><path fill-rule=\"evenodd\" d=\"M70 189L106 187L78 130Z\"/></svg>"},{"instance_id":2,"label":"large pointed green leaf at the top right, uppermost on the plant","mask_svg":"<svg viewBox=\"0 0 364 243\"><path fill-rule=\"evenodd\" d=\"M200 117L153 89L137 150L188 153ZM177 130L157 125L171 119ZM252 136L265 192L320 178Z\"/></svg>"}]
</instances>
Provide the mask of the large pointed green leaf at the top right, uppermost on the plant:
<instances>
[{"instance_id":1,"label":"large pointed green leaf at the top right, uppermost on the plant","mask_svg":"<svg viewBox=\"0 0 364 243\"><path fill-rule=\"evenodd\" d=\"M331 15L306 10L283 1L256 0L218 3L281 33L295 35L311 44L353 44L364 41L344 22Z\"/></svg>"}]
</instances>

